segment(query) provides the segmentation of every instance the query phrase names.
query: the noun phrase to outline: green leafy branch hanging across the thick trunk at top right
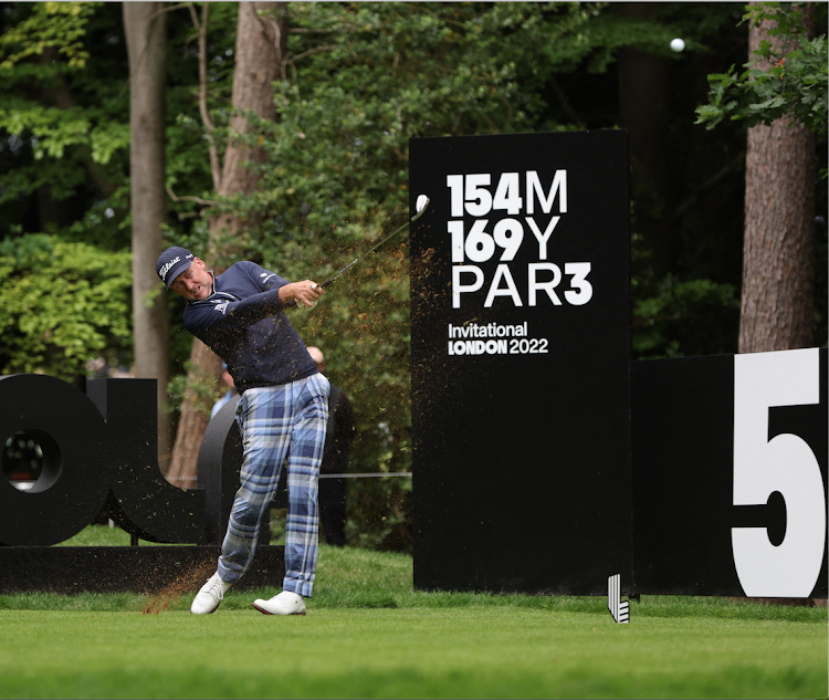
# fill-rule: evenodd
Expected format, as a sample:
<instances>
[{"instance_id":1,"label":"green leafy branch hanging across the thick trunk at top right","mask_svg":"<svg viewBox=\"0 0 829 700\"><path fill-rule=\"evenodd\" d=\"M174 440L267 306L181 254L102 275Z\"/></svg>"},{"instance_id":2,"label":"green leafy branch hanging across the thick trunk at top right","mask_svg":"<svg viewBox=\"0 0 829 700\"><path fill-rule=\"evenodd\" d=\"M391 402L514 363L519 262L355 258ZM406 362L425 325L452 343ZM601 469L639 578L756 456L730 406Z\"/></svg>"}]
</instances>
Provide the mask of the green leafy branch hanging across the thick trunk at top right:
<instances>
[{"instance_id":1,"label":"green leafy branch hanging across the thick trunk at top right","mask_svg":"<svg viewBox=\"0 0 829 700\"><path fill-rule=\"evenodd\" d=\"M827 135L827 86L829 55L826 33L809 40L800 6L764 2L749 7L744 21L759 25L773 20L769 30L779 36L781 48L774 50L763 41L756 59L737 72L732 65L726 73L709 76L709 104L697 107L697 124L714 128L724 119L743 119L747 126L770 124L784 116L793 116L815 132ZM757 67L769 62L770 67Z\"/></svg>"}]
</instances>

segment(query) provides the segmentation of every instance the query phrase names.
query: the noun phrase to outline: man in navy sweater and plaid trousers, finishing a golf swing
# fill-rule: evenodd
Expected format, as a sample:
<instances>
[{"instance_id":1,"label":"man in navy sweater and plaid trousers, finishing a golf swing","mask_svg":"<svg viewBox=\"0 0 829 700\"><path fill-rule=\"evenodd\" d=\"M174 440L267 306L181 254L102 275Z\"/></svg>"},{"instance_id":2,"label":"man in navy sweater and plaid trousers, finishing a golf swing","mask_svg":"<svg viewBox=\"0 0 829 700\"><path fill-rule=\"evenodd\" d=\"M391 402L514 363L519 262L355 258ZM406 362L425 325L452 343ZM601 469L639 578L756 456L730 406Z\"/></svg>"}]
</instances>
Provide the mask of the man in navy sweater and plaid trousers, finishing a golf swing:
<instances>
[{"instance_id":1,"label":"man in navy sweater and plaid trousers, finishing a golf swing","mask_svg":"<svg viewBox=\"0 0 829 700\"><path fill-rule=\"evenodd\" d=\"M266 615L305 615L317 558L317 487L325 447L330 385L316 367L284 309L314 306L322 286L287 282L244 261L220 275L183 248L156 263L168 290L187 300L185 328L228 365L240 399L237 421L244 445L241 488L230 512L216 574L190 612L212 613L253 560L260 521L269 512L283 462L287 467L285 578L282 593L253 603Z\"/></svg>"}]
</instances>

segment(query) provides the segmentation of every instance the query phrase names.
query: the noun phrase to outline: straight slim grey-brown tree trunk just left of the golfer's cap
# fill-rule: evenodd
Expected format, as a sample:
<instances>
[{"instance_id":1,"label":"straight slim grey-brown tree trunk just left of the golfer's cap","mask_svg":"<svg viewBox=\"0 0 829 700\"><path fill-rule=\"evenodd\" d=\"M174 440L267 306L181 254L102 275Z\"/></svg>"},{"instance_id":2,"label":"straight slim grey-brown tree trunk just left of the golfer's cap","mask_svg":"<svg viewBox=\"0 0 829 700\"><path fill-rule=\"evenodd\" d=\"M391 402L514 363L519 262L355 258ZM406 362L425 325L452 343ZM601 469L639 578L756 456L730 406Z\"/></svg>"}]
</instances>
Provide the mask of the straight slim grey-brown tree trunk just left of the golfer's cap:
<instances>
[{"instance_id":1,"label":"straight slim grey-brown tree trunk just left of the golfer's cap","mask_svg":"<svg viewBox=\"0 0 829 700\"><path fill-rule=\"evenodd\" d=\"M169 463L172 438L165 410L170 338L167 297L156 276L167 218L165 90L167 14L162 2L125 2L129 59L129 187L133 213L133 337L135 375L158 382L158 459Z\"/></svg>"}]
</instances>

